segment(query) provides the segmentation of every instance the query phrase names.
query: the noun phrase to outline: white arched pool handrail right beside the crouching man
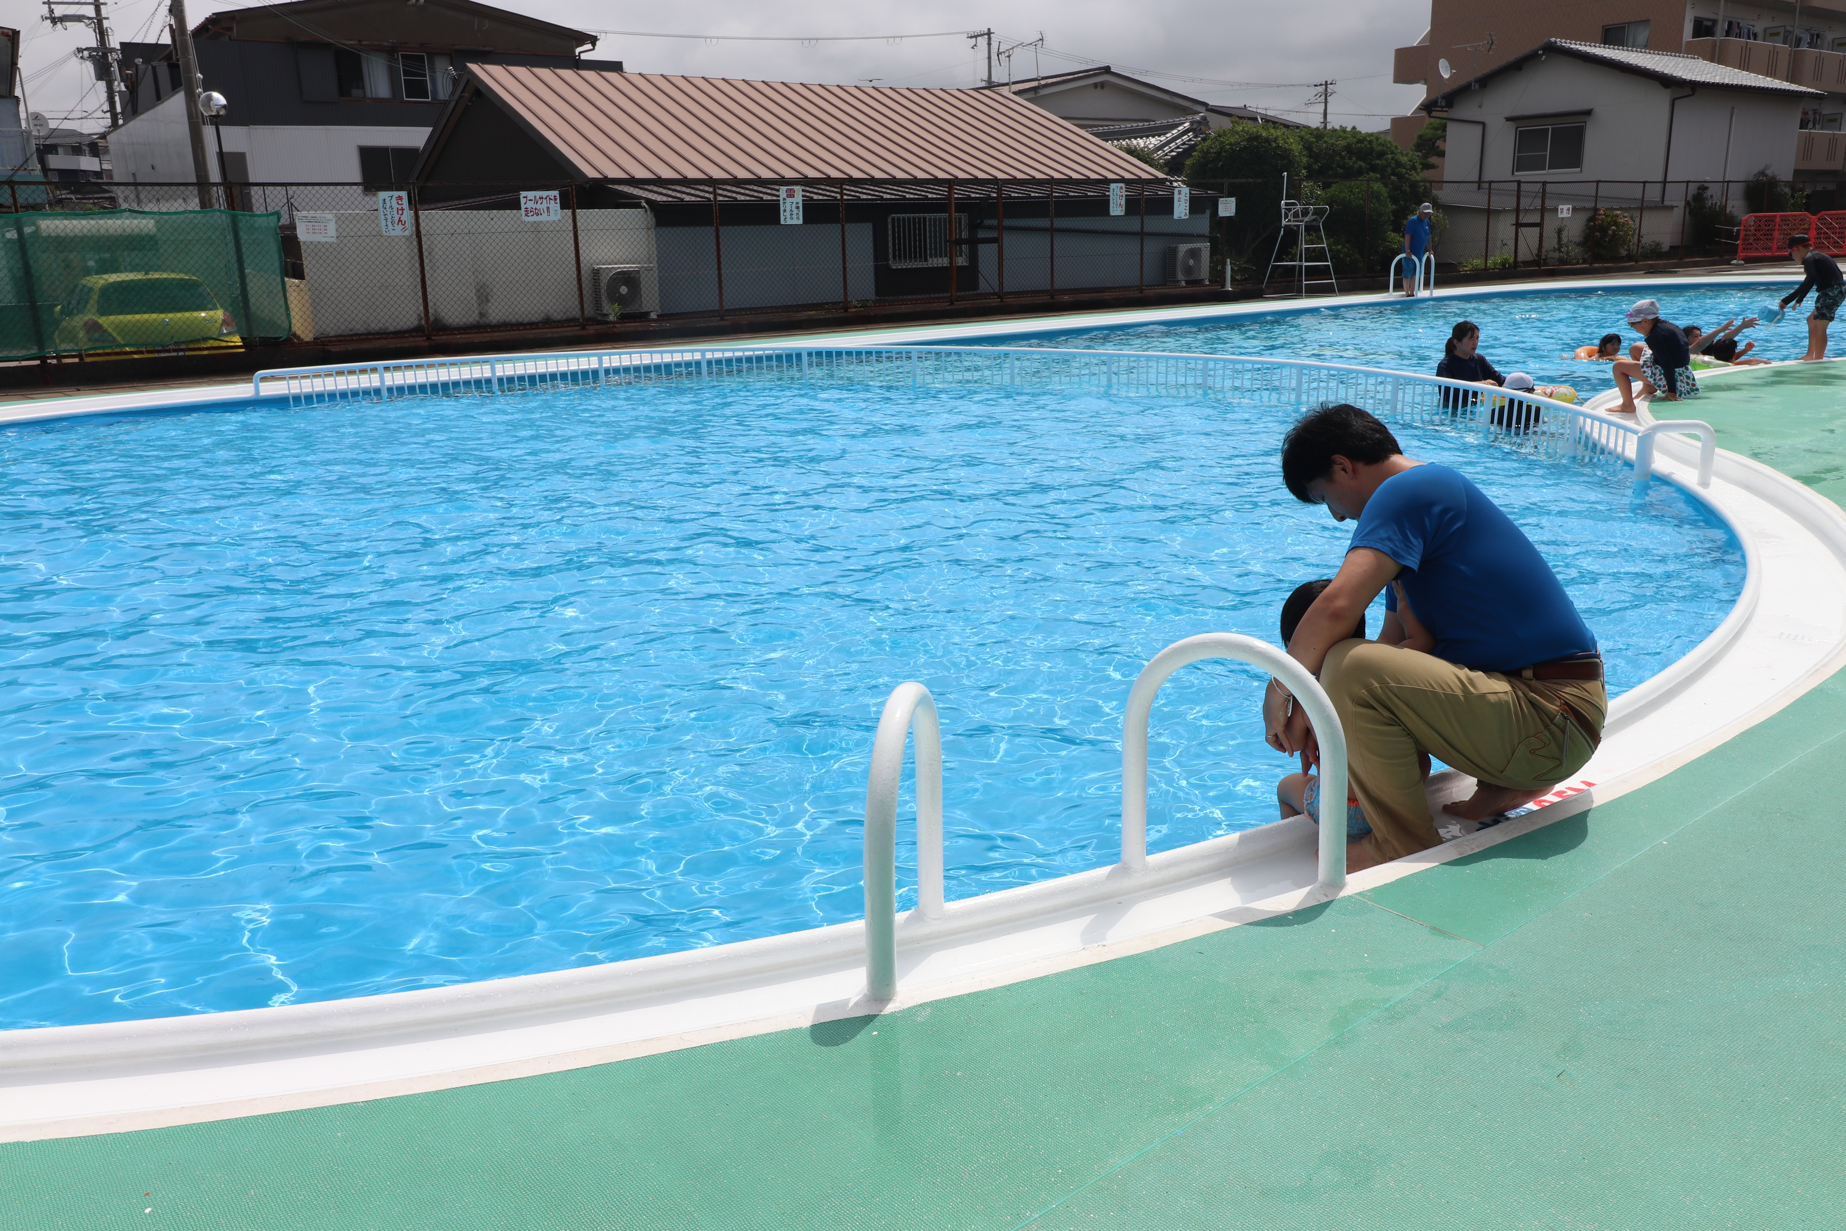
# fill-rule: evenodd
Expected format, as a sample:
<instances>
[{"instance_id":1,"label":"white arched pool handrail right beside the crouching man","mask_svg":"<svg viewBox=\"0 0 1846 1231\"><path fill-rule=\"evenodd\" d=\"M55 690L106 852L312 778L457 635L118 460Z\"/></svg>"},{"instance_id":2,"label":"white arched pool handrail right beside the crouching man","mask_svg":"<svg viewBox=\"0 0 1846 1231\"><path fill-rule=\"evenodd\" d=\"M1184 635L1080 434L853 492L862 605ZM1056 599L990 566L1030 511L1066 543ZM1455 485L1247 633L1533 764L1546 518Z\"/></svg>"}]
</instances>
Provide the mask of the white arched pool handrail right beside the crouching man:
<instances>
[{"instance_id":1,"label":"white arched pool handrail right beside the crouching man","mask_svg":"<svg viewBox=\"0 0 1846 1231\"><path fill-rule=\"evenodd\" d=\"M1346 825L1340 823L1346 805L1346 731L1333 712L1333 701L1305 666L1266 640L1242 633L1200 633L1176 640L1135 675L1135 685L1128 690L1128 712L1122 714L1122 867L1135 873L1148 864L1148 716L1154 712L1154 696L1176 670L1204 659L1261 666L1289 685L1289 692L1307 711L1320 740L1320 797L1340 801L1333 810L1333 823L1320 825L1320 888L1338 893L1346 888Z\"/></svg>"}]
</instances>

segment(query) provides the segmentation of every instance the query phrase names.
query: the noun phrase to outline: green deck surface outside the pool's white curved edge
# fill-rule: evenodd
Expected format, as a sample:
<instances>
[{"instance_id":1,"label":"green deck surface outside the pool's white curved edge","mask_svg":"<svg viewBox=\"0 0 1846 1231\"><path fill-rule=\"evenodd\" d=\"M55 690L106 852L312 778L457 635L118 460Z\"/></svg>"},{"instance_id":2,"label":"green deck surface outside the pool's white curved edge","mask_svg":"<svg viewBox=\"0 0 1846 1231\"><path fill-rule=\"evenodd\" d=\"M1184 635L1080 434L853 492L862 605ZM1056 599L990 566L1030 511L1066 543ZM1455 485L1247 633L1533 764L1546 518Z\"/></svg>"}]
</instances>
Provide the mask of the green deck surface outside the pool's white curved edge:
<instances>
[{"instance_id":1,"label":"green deck surface outside the pool's white curved edge","mask_svg":"<svg viewBox=\"0 0 1846 1231\"><path fill-rule=\"evenodd\" d=\"M1846 484L1820 415L1757 430L1720 441L1824 445L1805 471ZM1152 952L594 1069L0 1146L0 1227L1839 1227L1842 766L1846 674L1589 812Z\"/></svg>"}]
</instances>

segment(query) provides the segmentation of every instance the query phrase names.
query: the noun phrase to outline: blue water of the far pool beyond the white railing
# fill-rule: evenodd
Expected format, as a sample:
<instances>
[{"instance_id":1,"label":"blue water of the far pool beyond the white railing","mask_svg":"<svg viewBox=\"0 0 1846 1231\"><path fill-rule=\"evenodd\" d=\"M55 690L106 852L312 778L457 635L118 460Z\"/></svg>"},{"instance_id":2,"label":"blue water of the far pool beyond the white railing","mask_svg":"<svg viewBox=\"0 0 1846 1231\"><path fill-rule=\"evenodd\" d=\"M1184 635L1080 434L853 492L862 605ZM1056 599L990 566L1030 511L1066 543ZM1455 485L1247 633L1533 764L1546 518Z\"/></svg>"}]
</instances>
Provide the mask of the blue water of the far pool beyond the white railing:
<instances>
[{"instance_id":1,"label":"blue water of the far pool beyond the white railing","mask_svg":"<svg viewBox=\"0 0 1846 1231\"><path fill-rule=\"evenodd\" d=\"M1660 299L1661 314L1678 325L1715 329L1730 317L1761 312L1794 290L1800 279L1682 286L1663 279L1637 290L1612 286L1584 292L1418 299L1377 306L1322 308L1176 321L1091 330L1028 332L980 338L986 345L1045 345L1108 351L1187 351L1194 354L1272 354L1279 358L1361 364L1396 371L1436 373L1442 343L1456 321L1480 327L1480 353L1501 373L1523 371L1538 384L1575 386L1582 400L1613 388L1608 364L1571 358L1602 334L1621 334L1623 353L1639 341L1623 319L1636 299ZM1809 303L1813 303L1809 299ZM1754 358L1792 360L1807 349L1807 327L1798 314L1780 325L1744 330L1739 345L1756 341Z\"/></svg>"}]
</instances>

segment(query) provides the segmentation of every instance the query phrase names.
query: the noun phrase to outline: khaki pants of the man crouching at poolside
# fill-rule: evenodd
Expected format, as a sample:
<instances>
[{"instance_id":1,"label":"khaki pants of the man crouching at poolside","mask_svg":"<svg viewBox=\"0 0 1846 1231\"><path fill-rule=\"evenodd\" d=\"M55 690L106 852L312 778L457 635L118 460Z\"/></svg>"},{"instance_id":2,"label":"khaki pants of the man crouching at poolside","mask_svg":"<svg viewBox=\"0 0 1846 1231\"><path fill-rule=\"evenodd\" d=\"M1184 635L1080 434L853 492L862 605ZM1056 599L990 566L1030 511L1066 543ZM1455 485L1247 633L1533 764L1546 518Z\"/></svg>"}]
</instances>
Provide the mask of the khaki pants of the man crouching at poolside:
<instances>
[{"instance_id":1,"label":"khaki pants of the man crouching at poolside","mask_svg":"<svg viewBox=\"0 0 1846 1231\"><path fill-rule=\"evenodd\" d=\"M1320 687L1346 729L1351 792L1372 823L1362 842L1379 860L1442 842L1423 795L1418 751L1482 783L1547 790L1584 768L1608 712L1600 679L1471 672L1375 640L1335 646L1320 668ZM1595 727L1584 731L1560 701Z\"/></svg>"}]
</instances>

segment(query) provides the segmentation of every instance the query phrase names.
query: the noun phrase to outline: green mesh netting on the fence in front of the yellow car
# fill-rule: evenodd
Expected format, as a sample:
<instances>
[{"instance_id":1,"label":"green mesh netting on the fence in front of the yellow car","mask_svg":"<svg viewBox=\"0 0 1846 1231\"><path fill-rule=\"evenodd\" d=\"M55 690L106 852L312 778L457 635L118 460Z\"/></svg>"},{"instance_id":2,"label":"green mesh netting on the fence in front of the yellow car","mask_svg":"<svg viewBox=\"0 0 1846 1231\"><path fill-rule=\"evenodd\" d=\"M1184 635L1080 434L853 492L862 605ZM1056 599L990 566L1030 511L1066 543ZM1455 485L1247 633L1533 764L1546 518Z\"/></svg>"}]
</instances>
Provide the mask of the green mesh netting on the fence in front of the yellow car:
<instances>
[{"instance_id":1,"label":"green mesh netting on the fence in front of the yellow car","mask_svg":"<svg viewBox=\"0 0 1846 1231\"><path fill-rule=\"evenodd\" d=\"M279 221L222 209L7 214L0 358L286 338Z\"/></svg>"}]
</instances>

